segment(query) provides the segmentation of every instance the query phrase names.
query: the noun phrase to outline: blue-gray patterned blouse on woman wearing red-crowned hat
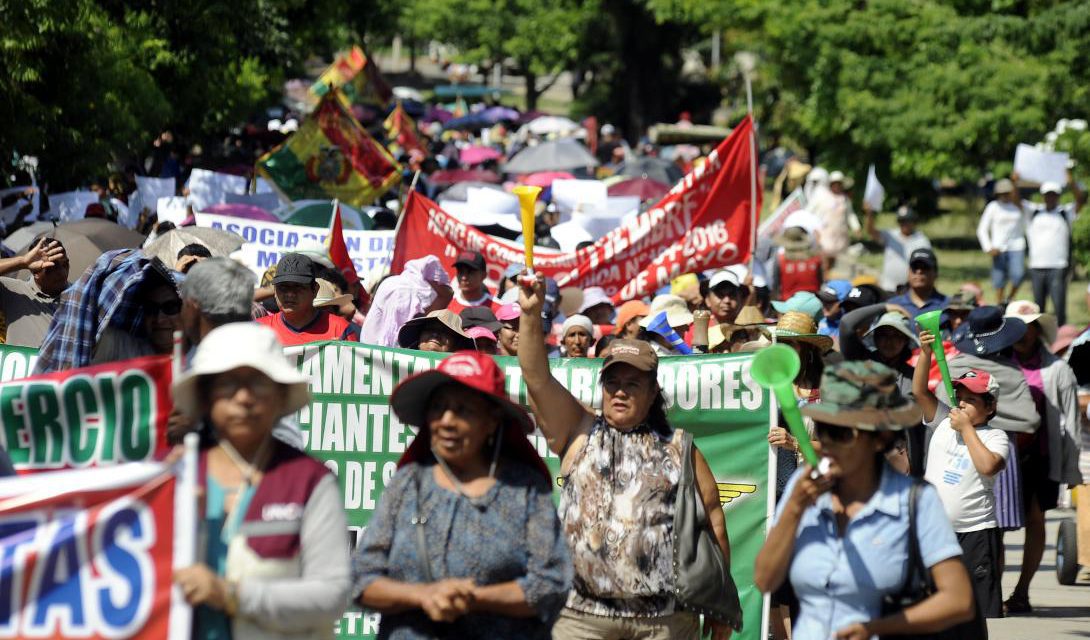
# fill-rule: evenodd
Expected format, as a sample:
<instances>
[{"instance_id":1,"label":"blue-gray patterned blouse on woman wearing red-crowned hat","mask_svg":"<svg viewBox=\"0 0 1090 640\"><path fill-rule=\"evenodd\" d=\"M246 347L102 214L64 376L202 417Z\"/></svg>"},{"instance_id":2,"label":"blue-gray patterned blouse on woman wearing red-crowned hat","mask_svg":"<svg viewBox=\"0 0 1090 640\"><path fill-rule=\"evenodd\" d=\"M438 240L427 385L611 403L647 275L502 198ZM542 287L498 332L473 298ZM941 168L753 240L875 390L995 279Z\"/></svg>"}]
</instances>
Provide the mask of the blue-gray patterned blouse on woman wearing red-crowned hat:
<instances>
[{"instance_id":1,"label":"blue-gray patterned blouse on woman wearing red-crowned hat","mask_svg":"<svg viewBox=\"0 0 1090 640\"><path fill-rule=\"evenodd\" d=\"M477 584L514 580L537 616L470 614L439 624L415 609L384 615L378 638L548 639L572 573L549 481L525 464L507 461L492 488L468 498L436 484L434 468L434 461L407 464L386 487L352 557L353 601L377 578L426 581L413 524L422 499L432 577L472 578Z\"/></svg>"}]
</instances>

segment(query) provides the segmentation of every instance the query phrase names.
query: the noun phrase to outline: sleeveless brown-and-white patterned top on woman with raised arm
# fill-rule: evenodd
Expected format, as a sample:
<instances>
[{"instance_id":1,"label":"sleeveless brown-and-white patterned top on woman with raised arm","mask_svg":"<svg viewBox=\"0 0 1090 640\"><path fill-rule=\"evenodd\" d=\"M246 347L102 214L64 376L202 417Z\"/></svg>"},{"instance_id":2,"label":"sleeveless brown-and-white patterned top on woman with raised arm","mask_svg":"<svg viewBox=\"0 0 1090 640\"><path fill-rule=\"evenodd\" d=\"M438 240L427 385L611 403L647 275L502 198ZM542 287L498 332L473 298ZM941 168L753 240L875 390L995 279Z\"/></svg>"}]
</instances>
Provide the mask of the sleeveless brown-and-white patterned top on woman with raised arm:
<instances>
[{"instance_id":1,"label":"sleeveless brown-and-white patterned top on woman with raised arm","mask_svg":"<svg viewBox=\"0 0 1090 640\"><path fill-rule=\"evenodd\" d=\"M674 613L674 506L681 431L594 422L560 495L576 567L568 606L619 617Z\"/></svg>"}]
</instances>

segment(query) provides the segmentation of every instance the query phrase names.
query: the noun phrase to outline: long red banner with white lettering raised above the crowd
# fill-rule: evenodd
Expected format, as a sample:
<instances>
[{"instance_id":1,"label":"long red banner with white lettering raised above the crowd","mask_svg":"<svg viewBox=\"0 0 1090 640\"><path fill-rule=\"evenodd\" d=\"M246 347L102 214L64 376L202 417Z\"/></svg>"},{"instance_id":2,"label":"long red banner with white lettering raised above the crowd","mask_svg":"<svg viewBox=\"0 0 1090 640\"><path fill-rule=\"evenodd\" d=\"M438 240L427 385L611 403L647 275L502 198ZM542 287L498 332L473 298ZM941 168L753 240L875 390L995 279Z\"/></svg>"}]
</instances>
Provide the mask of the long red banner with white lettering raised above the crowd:
<instances>
[{"instance_id":1,"label":"long red banner with white lettering raised above the crowd","mask_svg":"<svg viewBox=\"0 0 1090 640\"><path fill-rule=\"evenodd\" d=\"M681 274L746 262L752 251L752 130L747 118L658 204L593 246L576 253L536 249L534 268L561 287L602 287L621 302L650 295ZM761 208L760 188L755 207ZM524 262L520 244L488 236L410 193L391 273L425 255L438 256L452 270L460 251L483 253L493 280Z\"/></svg>"}]
</instances>

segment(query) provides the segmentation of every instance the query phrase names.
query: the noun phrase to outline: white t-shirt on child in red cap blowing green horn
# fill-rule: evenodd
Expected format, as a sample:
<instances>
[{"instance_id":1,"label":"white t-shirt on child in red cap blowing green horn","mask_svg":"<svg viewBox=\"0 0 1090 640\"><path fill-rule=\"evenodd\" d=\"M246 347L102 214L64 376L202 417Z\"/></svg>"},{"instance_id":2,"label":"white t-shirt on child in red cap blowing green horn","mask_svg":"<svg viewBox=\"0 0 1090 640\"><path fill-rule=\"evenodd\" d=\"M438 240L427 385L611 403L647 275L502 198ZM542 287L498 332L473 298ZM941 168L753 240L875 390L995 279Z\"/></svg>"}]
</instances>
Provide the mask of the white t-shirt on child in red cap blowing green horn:
<instances>
[{"instance_id":1,"label":"white t-shirt on child in red cap blowing green horn","mask_svg":"<svg viewBox=\"0 0 1090 640\"><path fill-rule=\"evenodd\" d=\"M940 402L935 420L925 423L931 442L928 443L923 479L938 491L955 533L993 529L1000 526L992 491L995 476L984 478L977 472L961 434L950 427L949 411L949 407ZM977 435L989 451L1007 459L1010 439L1005 431L984 425L977 427Z\"/></svg>"}]
</instances>

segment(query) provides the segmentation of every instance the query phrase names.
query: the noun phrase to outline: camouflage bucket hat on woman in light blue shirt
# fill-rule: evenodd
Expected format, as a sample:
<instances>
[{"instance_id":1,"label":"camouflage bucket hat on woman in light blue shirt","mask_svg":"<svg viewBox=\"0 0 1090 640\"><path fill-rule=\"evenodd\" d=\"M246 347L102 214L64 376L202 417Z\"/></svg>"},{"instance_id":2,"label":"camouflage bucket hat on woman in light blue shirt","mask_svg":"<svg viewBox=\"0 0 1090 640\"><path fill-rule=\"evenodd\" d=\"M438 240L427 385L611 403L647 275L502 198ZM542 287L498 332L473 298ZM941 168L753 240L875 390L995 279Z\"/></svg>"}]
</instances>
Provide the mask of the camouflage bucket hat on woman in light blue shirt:
<instances>
[{"instance_id":1,"label":"camouflage bucket hat on woman in light blue shirt","mask_svg":"<svg viewBox=\"0 0 1090 640\"><path fill-rule=\"evenodd\" d=\"M901 431L920 424L922 412L897 388L897 374L872 361L849 361L825 370L821 402L802 414L818 422L862 431Z\"/></svg>"}]
</instances>

